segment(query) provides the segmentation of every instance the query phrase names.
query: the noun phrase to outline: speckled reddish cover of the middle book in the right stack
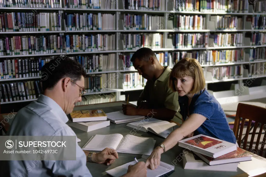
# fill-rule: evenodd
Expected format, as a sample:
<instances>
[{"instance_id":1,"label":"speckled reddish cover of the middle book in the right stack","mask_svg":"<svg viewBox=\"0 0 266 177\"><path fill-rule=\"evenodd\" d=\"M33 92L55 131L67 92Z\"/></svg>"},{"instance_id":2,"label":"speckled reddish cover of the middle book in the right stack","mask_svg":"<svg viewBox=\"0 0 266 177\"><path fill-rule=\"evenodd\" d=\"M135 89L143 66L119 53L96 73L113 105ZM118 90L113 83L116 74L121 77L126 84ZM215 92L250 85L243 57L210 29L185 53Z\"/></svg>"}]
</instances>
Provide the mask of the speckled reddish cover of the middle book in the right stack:
<instances>
[{"instance_id":1,"label":"speckled reddish cover of the middle book in the right stack","mask_svg":"<svg viewBox=\"0 0 266 177\"><path fill-rule=\"evenodd\" d=\"M237 148L237 150L232 151L228 154L222 155L217 158L208 157L206 155L201 154L203 157L205 157L208 161L219 161L219 160L225 160L225 159L232 159L232 158L239 158L239 157L248 157L252 156L248 151L245 151L241 148Z\"/></svg>"}]
</instances>

